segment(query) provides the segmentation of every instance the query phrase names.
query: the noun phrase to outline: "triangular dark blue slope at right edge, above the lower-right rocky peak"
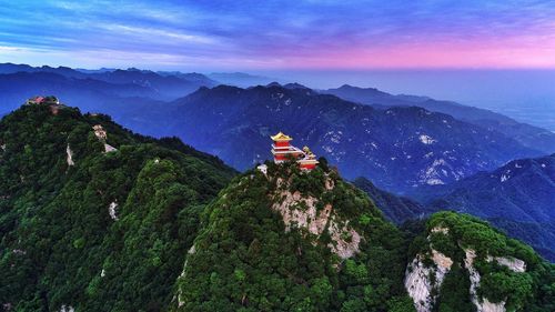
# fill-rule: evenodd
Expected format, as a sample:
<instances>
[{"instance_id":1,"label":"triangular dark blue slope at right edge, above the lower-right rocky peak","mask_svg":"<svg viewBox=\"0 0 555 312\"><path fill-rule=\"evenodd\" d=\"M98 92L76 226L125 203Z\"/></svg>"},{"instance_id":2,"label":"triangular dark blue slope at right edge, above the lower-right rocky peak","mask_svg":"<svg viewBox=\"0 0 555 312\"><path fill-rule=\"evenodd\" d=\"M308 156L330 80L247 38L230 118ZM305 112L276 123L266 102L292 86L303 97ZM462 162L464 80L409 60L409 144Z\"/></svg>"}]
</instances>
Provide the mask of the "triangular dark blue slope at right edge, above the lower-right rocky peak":
<instances>
[{"instance_id":1,"label":"triangular dark blue slope at right edge, above the lower-right rocky peak","mask_svg":"<svg viewBox=\"0 0 555 312\"><path fill-rule=\"evenodd\" d=\"M452 185L423 190L434 209L452 209L491 220L555 260L555 154L521 159Z\"/></svg>"}]
</instances>

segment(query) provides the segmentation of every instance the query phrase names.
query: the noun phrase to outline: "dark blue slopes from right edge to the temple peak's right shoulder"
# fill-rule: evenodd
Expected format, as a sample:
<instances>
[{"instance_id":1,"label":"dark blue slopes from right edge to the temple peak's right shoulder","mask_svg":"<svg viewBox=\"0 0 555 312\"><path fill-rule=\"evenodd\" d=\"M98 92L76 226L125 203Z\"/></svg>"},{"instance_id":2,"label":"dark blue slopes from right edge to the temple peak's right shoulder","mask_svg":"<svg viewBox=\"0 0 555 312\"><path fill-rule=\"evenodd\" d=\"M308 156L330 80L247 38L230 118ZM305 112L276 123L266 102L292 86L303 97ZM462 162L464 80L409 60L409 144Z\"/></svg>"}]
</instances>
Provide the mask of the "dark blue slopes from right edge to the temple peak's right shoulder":
<instances>
[{"instance_id":1,"label":"dark blue slopes from right edge to the temple peak's right shoulder","mask_svg":"<svg viewBox=\"0 0 555 312\"><path fill-rule=\"evenodd\" d=\"M385 217L402 224L451 210L487 220L555 261L555 155L519 159L446 185L420 188L410 198L376 188L365 178L353 183Z\"/></svg>"}]
</instances>

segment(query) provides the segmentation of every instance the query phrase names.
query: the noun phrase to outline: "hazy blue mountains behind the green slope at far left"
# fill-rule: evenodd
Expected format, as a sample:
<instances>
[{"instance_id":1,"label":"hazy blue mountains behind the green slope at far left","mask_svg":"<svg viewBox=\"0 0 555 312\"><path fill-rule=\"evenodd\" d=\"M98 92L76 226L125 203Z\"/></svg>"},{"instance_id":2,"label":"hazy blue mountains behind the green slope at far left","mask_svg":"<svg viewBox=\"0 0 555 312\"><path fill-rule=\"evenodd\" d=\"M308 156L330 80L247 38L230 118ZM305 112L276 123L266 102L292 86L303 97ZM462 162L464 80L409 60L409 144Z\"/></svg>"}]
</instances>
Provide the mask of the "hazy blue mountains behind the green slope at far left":
<instances>
[{"instance_id":1,"label":"hazy blue mountains behind the green slope at far left","mask_svg":"<svg viewBox=\"0 0 555 312\"><path fill-rule=\"evenodd\" d=\"M108 113L124 127L154 135L168 114L168 103L155 100L159 93L152 88L49 72L18 72L0 74L0 115L38 94L56 94L63 103L78 103L84 112Z\"/></svg>"}]
</instances>

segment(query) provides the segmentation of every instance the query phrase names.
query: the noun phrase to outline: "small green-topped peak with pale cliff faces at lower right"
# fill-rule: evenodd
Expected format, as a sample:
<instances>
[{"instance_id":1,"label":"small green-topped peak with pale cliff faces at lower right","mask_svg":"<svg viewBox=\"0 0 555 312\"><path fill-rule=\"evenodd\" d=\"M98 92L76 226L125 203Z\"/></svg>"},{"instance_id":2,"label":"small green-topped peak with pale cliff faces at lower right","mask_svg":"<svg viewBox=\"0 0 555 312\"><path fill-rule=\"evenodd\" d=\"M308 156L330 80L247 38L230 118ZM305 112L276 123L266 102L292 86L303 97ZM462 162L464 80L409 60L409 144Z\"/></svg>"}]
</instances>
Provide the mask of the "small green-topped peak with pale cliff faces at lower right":
<instances>
[{"instance_id":1,"label":"small green-topped peak with pale cliff faces at lower right","mask_svg":"<svg viewBox=\"0 0 555 312\"><path fill-rule=\"evenodd\" d=\"M405 272L405 289L416 311L435 311L456 299L474 308L455 311L524 308L528 294L523 290L533 288L529 271L537 269L537 255L471 217L436 213L427 229L416 240L418 251ZM460 282L446 284L447 279Z\"/></svg>"}]
</instances>

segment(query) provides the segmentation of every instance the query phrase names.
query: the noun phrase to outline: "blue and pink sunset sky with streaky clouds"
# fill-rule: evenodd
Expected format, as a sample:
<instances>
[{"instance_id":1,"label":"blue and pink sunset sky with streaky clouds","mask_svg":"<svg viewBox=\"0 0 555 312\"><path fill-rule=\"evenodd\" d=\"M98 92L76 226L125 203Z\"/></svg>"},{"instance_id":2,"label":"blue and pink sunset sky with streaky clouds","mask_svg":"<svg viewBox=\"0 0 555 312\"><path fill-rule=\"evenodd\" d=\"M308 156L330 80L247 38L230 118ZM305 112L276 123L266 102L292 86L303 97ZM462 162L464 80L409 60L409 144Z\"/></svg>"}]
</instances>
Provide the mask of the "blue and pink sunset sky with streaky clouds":
<instances>
[{"instance_id":1,"label":"blue and pink sunset sky with streaky clouds","mask_svg":"<svg viewBox=\"0 0 555 312\"><path fill-rule=\"evenodd\" d=\"M555 1L8 1L0 62L178 70L555 68Z\"/></svg>"}]
</instances>

